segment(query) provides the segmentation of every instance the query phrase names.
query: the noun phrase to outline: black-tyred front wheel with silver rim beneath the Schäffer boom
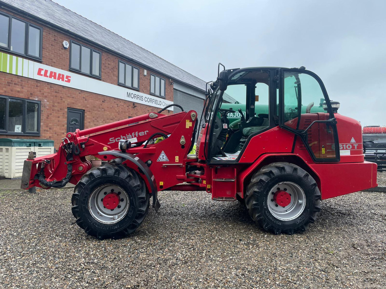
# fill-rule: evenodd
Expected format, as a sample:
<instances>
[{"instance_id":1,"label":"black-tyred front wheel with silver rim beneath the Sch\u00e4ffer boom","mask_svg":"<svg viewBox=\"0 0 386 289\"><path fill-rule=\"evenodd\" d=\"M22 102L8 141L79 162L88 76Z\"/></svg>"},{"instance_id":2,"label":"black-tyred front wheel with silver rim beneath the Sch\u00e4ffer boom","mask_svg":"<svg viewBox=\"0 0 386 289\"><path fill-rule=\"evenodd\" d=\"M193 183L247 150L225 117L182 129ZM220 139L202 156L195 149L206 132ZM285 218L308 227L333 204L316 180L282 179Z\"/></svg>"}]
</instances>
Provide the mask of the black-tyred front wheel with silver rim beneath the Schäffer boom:
<instances>
[{"instance_id":1,"label":"black-tyred front wheel with silver rim beneath the Sch\u00e4ffer boom","mask_svg":"<svg viewBox=\"0 0 386 289\"><path fill-rule=\"evenodd\" d=\"M110 192L119 202L112 210L103 203ZM119 239L134 232L145 219L149 193L144 180L134 170L114 162L92 168L83 175L71 203L76 223L88 235L100 240Z\"/></svg>"}]
</instances>

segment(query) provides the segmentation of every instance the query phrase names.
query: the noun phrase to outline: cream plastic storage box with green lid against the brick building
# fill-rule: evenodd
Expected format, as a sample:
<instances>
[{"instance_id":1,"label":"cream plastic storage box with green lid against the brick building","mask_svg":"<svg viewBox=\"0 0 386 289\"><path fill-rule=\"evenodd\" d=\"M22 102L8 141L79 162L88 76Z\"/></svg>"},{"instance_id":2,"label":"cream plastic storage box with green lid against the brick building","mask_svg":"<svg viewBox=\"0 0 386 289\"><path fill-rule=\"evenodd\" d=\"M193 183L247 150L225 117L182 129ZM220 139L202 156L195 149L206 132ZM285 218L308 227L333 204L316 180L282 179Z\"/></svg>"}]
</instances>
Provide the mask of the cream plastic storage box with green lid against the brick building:
<instances>
[{"instance_id":1,"label":"cream plastic storage box with green lid against the brick building","mask_svg":"<svg viewBox=\"0 0 386 289\"><path fill-rule=\"evenodd\" d=\"M0 138L0 176L21 178L24 160L30 151L36 156L54 153L54 141L50 139Z\"/></svg>"}]
</instances>

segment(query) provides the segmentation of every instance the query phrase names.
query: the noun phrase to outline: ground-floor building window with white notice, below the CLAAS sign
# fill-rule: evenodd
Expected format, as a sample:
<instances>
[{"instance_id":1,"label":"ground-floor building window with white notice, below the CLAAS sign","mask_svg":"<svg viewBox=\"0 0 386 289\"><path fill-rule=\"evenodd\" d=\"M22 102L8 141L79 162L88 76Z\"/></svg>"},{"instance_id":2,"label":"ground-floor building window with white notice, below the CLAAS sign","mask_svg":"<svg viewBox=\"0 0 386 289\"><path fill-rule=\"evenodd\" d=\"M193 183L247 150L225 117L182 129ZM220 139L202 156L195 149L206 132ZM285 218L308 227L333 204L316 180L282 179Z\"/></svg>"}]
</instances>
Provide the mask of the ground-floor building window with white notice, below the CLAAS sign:
<instances>
[{"instance_id":1,"label":"ground-floor building window with white notice, below the CLAAS sign","mask_svg":"<svg viewBox=\"0 0 386 289\"><path fill-rule=\"evenodd\" d=\"M0 134L40 134L40 101L0 96Z\"/></svg>"}]
</instances>

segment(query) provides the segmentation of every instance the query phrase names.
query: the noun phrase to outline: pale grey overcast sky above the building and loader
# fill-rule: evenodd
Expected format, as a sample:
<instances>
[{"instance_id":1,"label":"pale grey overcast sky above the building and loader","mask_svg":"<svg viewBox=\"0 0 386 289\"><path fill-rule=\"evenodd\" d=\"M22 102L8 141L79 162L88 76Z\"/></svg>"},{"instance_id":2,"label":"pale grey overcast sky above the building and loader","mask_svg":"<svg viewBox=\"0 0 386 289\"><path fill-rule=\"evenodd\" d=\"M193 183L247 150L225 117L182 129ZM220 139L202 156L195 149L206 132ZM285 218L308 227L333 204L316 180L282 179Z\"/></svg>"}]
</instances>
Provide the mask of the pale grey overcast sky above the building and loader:
<instances>
[{"instance_id":1,"label":"pale grey overcast sky above the building and loader","mask_svg":"<svg viewBox=\"0 0 386 289\"><path fill-rule=\"evenodd\" d=\"M341 114L386 125L386 1L54 1L205 81L305 66Z\"/></svg>"}]
</instances>

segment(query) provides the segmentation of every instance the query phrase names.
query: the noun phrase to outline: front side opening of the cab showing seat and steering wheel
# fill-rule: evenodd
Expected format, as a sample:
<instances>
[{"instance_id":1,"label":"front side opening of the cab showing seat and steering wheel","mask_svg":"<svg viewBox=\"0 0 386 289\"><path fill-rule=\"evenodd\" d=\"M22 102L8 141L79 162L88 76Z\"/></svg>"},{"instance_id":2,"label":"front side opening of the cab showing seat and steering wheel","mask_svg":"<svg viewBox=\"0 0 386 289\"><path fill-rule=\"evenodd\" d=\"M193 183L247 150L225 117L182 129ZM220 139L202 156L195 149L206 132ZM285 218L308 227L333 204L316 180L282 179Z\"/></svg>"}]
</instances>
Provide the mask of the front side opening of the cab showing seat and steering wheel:
<instances>
[{"instance_id":1,"label":"front side opening of the cab showing seat and steering wheel","mask_svg":"<svg viewBox=\"0 0 386 289\"><path fill-rule=\"evenodd\" d=\"M222 103L213 120L211 156L235 161L247 138L269 127L269 71L242 71L231 77L225 96L235 103Z\"/></svg>"}]
</instances>

